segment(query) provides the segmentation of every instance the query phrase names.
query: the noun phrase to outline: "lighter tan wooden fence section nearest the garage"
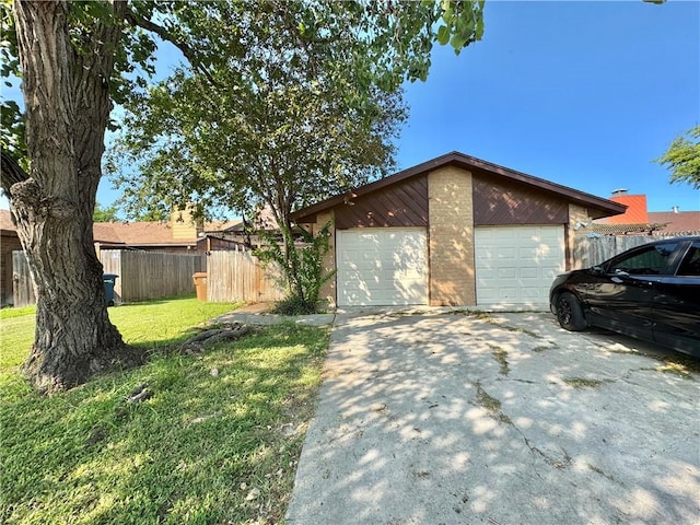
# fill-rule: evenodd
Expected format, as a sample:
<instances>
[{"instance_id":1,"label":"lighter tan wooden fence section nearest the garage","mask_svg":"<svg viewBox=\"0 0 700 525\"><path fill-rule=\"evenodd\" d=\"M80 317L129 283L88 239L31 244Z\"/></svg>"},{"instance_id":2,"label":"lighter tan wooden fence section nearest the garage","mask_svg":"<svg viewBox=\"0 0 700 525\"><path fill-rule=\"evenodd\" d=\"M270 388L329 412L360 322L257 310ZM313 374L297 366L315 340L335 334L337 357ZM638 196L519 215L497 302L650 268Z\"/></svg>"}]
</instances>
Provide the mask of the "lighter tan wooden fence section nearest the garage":
<instances>
[{"instance_id":1,"label":"lighter tan wooden fence section nearest the garage","mask_svg":"<svg viewBox=\"0 0 700 525\"><path fill-rule=\"evenodd\" d=\"M284 298L270 268L249 252L210 252L207 257L207 301L268 302Z\"/></svg>"}]
</instances>

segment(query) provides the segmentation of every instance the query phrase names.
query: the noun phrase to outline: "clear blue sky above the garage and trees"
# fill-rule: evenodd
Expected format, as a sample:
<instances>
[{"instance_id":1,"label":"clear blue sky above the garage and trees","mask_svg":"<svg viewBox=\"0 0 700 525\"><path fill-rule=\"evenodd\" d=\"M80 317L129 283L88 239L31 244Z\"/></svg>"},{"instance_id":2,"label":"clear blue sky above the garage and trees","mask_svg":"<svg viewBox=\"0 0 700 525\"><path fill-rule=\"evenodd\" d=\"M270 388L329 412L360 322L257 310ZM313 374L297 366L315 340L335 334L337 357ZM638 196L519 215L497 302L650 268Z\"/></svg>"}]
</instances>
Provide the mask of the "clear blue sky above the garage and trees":
<instances>
[{"instance_id":1,"label":"clear blue sky above the garage and trees","mask_svg":"<svg viewBox=\"0 0 700 525\"><path fill-rule=\"evenodd\" d=\"M700 210L700 191L652 162L700 124L700 2L490 0L485 22L481 42L436 47L427 82L406 86L400 168L460 151L599 197L645 194L650 211ZM98 202L117 197L103 180Z\"/></svg>"}]
</instances>

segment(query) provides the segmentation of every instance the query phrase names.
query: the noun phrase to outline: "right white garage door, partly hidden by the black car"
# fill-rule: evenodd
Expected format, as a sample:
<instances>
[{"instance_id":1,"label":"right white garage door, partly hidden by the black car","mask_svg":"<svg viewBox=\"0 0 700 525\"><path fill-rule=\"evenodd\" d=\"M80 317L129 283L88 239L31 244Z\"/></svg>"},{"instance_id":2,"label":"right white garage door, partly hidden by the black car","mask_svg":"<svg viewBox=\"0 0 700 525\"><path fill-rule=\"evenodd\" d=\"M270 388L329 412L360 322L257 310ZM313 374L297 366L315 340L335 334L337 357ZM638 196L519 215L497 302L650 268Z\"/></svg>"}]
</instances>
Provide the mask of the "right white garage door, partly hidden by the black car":
<instances>
[{"instance_id":1,"label":"right white garage door, partly hidden by the black car","mask_svg":"<svg viewBox=\"0 0 700 525\"><path fill-rule=\"evenodd\" d=\"M564 270L563 226L477 226L477 304L546 307Z\"/></svg>"}]
</instances>

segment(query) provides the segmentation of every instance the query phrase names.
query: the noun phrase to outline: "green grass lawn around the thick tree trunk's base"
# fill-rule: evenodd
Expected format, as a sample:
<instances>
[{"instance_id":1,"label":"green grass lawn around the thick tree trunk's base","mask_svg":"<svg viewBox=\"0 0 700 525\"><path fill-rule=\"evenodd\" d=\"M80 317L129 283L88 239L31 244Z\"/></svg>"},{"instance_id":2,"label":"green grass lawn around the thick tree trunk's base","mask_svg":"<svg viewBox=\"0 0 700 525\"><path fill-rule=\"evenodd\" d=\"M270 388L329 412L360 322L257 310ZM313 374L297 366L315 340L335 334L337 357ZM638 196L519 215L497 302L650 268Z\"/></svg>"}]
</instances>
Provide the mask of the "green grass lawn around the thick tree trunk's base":
<instances>
[{"instance_id":1,"label":"green grass lawn around the thick tree trunk's base","mask_svg":"<svg viewBox=\"0 0 700 525\"><path fill-rule=\"evenodd\" d=\"M0 317L0 522L281 522L328 330L288 324L201 355L159 351L232 308L189 298L109 308L152 359L50 397L19 374L33 316ZM152 397L126 402L143 384Z\"/></svg>"}]
</instances>

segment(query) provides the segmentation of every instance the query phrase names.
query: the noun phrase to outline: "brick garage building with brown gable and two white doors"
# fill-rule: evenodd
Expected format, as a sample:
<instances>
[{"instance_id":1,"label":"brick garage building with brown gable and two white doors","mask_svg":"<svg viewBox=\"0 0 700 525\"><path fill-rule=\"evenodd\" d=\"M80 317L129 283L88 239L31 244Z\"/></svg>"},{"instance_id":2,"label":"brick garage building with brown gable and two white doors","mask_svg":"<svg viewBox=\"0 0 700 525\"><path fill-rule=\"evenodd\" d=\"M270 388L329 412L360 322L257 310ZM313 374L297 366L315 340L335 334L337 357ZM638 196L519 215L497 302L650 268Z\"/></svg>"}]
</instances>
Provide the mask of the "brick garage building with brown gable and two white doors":
<instances>
[{"instance_id":1,"label":"brick garage building with brown gable and two white doors","mask_svg":"<svg viewBox=\"0 0 700 525\"><path fill-rule=\"evenodd\" d=\"M453 152L293 213L335 220L324 296L338 306L546 307L574 230L623 205Z\"/></svg>"}]
</instances>

